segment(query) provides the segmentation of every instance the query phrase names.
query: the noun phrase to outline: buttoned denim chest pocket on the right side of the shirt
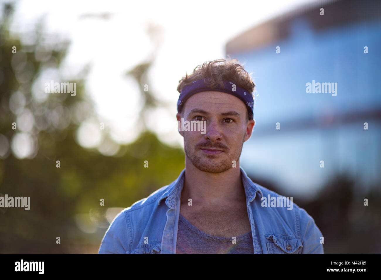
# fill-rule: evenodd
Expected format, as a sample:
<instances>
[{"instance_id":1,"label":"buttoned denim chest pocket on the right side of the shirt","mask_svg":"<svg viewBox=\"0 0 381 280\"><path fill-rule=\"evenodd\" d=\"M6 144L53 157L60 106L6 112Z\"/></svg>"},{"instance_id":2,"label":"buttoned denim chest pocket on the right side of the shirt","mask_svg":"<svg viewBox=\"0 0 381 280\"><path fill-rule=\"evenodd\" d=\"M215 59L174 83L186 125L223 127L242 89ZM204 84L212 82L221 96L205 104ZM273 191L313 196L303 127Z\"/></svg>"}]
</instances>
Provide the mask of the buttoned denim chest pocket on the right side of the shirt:
<instances>
[{"instance_id":1,"label":"buttoned denim chest pocket on the right side of the shirt","mask_svg":"<svg viewBox=\"0 0 381 280\"><path fill-rule=\"evenodd\" d=\"M269 254L300 254L302 243L298 238L278 234L265 234Z\"/></svg>"}]
</instances>

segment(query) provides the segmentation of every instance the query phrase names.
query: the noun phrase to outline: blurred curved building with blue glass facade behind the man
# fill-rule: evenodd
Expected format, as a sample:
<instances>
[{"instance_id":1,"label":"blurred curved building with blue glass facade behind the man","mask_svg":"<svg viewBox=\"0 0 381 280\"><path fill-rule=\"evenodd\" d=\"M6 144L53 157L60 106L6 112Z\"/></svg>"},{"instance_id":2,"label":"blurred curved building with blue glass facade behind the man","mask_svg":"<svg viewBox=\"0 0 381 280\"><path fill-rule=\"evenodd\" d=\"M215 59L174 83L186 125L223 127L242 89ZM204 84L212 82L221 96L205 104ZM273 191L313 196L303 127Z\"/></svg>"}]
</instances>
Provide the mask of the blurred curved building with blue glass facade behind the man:
<instances>
[{"instance_id":1,"label":"blurred curved building with blue glass facade behind the man","mask_svg":"<svg viewBox=\"0 0 381 280\"><path fill-rule=\"evenodd\" d=\"M379 187L380 8L371 0L319 1L227 42L226 54L257 85L256 125L241 155L248 173L305 197L336 173L356 187ZM337 91L307 93L306 83Z\"/></svg>"}]
</instances>

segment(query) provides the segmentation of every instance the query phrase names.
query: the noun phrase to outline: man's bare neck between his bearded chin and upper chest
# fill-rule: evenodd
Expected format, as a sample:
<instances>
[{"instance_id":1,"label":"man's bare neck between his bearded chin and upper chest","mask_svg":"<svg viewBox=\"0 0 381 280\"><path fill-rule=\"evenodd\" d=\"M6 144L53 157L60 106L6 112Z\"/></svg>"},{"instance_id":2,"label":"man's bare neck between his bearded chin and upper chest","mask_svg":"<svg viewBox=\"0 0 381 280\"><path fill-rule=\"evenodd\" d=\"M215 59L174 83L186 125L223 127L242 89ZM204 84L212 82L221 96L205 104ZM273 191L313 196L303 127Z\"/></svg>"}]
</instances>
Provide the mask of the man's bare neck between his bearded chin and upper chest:
<instances>
[{"instance_id":1,"label":"man's bare neck between his bearded chin and upper chest","mask_svg":"<svg viewBox=\"0 0 381 280\"><path fill-rule=\"evenodd\" d=\"M208 173L197 169L186 159L181 200L187 203L189 198L206 207L245 201L246 195L242 185L239 161L235 168L222 173Z\"/></svg>"}]
</instances>

